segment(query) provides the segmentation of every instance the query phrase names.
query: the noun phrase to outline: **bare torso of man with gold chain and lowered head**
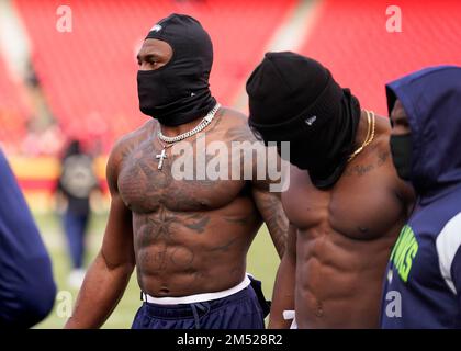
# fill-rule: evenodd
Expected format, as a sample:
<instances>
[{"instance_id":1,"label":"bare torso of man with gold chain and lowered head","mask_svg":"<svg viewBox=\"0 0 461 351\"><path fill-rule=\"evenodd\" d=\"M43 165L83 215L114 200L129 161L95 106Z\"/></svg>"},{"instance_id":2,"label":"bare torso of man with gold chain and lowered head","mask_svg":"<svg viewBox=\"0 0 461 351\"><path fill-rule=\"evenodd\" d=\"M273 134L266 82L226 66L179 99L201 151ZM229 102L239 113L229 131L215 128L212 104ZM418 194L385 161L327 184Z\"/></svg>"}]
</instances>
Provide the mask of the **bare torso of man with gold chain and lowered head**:
<instances>
[{"instance_id":1,"label":"bare torso of man with gold chain and lowered head","mask_svg":"<svg viewBox=\"0 0 461 351\"><path fill-rule=\"evenodd\" d=\"M382 135L319 191L291 168L282 194L297 228L295 308L300 328L374 328L392 246L407 215Z\"/></svg>"}]
</instances>

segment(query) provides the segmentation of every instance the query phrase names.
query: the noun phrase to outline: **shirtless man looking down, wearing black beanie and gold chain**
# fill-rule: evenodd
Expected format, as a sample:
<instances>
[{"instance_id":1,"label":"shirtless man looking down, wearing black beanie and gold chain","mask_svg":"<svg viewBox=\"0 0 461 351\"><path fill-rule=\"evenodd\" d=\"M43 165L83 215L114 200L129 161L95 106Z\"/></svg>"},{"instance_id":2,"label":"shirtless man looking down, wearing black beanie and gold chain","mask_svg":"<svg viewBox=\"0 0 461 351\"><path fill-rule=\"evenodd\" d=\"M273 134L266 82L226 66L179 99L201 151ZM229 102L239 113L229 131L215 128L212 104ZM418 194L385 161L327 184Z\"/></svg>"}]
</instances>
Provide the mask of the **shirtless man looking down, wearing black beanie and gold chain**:
<instances>
[{"instance_id":1,"label":"shirtless man looking down, wearing black beanie and gold chain","mask_svg":"<svg viewBox=\"0 0 461 351\"><path fill-rule=\"evenodd\" d=\"M290 141L290 220L271 328L376 328L391 248L412 203L390 157L386 118L361 110L319 63L268 53L247 82L249 124ZM282 155L283 157L283 155Z\"/></svg>"}]
</instances>

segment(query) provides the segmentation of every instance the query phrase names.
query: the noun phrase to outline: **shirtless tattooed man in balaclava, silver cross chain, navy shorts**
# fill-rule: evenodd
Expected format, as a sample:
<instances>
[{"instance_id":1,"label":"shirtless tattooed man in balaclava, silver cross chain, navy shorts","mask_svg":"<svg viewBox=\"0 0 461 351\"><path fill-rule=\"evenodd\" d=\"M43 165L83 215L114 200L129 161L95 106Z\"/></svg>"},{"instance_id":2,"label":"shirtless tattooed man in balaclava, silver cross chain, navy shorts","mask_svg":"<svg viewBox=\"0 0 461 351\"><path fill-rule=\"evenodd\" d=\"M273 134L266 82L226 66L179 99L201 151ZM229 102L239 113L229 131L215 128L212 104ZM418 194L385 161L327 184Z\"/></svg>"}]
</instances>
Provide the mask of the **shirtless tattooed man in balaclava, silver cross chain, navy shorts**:
<instances>
[{"instance_id":1,"label":"shirtless tattooed man in balaclava, silver cross chain, navy shorts","mask_svg":"<svg viewBox=\"0 0 461 351\"><path fill-rule=\"evenodd\" d=\"M269 181L177 180L172 173L175 146L199 144L196 129L184 136L195 126L207 145L254 139L247 118L211 95L212 60L210 36L190 16L172 14L147 35L138 94L140 110L155 120L111 152L102 248L66 327L100 327L136 267L144 304L133 328L263 328L260 286L246 274L246 256L262 220L282 256L288 220L280 194L268 191ZM169 139L177 136L183 139Z\"/></svg>"}]
</instances>

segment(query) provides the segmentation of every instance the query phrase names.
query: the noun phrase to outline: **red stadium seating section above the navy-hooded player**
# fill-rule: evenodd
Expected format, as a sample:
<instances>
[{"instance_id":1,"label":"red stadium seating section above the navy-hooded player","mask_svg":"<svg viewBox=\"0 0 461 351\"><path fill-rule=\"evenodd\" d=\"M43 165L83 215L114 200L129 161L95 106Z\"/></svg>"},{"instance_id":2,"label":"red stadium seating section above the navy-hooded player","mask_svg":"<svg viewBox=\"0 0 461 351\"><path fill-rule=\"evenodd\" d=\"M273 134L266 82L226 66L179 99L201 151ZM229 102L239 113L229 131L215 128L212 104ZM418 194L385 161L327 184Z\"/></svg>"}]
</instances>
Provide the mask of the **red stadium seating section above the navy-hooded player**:
<instances>
[{"instance_id":1,"label":"red stadium seating section above the navy-hooded player","mask_svg":"<svg viewBox=\"0 0 461 351\"><path fill-rule=\"evenodd\" d=\"M387 115L384 84L426 66L461 65L461 2L397 1L402 32L386 31L386 0L325 0L301 53L329 67L362 105Z\"/></svg>"}]
</instances>

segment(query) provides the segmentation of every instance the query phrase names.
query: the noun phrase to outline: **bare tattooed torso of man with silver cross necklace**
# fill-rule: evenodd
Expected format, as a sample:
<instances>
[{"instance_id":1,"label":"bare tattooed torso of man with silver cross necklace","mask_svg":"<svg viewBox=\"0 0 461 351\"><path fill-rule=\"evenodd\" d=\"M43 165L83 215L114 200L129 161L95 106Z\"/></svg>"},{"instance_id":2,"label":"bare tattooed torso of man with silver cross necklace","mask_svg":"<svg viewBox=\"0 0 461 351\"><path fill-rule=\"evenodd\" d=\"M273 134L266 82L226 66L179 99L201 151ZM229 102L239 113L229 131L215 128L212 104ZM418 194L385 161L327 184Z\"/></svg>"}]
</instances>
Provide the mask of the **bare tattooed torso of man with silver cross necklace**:
<instances>
[{"instance_id":1,"label":"bare tattooed torso of man with silver cross necklace","mask_svg":"<svg viewBox=\"0 0 461 351\"><path fill-rule=\"evenodd\" d=\"M207 131L206 143L231 143L229 131L217 120ZM130 143L119 171L121 196L133 213L139 285L159 297L229 288L243 280L246 253L261 225L249 184L176 180L171 149L158 170L155 156L162 146L157 127L149 122L140 137Z\"/></svg>"}]
</instances>

